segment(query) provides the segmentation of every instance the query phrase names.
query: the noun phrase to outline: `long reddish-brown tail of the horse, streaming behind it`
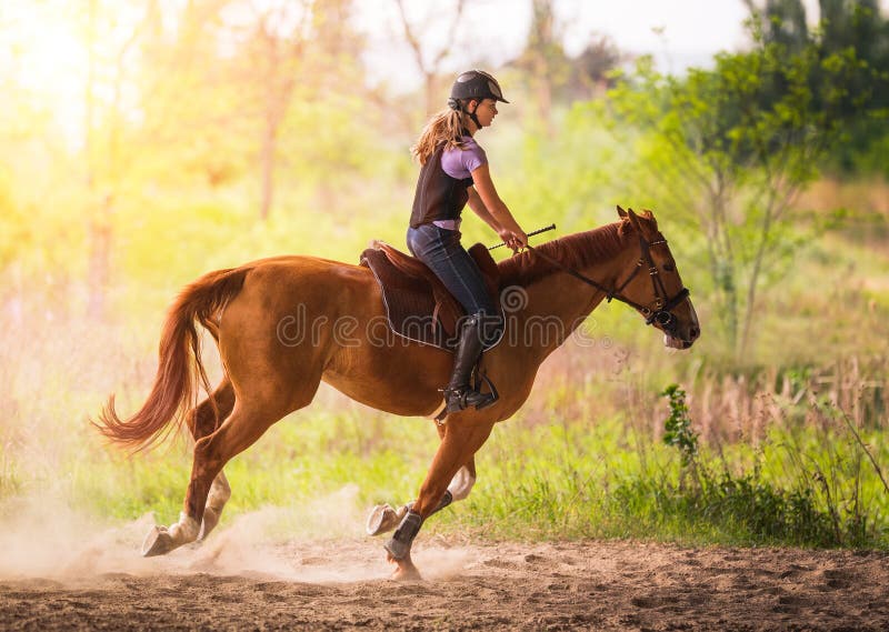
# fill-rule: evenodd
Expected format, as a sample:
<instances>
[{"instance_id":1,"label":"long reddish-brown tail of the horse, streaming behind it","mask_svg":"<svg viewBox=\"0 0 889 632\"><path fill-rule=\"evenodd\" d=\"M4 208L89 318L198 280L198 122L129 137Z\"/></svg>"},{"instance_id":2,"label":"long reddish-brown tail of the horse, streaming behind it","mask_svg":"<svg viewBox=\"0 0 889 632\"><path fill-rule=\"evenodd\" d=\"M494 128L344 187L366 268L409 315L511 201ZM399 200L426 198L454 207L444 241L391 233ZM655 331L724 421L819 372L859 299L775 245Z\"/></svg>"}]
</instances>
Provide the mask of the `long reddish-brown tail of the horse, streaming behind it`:
<instances>
[{"instance_id":1,"label":"long reddish-brown tail of the horse, streaming behind it","mask_svg":"<svg viewBox=\"0 0 889 632\"><path fill-rule=\"evenodd\" d=\"M182 290L170 307L163 324L158 374L151 393L139 412L126 420L121 420L114 411L114 395L111 395L98 421L92 422L99 432L116 443L138 451L163 441L182 424L186 407L194 400L199 382L210 393L194 322L197 320L203 327L212 325L209 319L241 291L250 270L237 268L210 272ZM216 333L214 327L210 329ZM213 401L210 403L214 404ZM174 423L170 424L171 421Z\"/></svg>"}]
</instances>

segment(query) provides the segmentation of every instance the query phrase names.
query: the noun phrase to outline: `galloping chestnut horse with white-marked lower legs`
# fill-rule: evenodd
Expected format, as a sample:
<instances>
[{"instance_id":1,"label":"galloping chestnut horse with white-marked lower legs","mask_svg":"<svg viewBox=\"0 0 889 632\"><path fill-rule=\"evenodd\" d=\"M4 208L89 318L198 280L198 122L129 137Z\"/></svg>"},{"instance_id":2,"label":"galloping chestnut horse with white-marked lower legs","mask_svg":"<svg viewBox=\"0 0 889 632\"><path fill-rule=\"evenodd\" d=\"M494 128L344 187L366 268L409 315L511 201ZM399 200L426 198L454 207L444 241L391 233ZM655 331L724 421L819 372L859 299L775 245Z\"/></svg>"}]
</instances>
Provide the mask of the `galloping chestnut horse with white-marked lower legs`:
<instances>
[{"instance_id":1,"label":"galloping chestnut horse with white-marked lower legs","mask_svg":"<svg viewBox=\"0 0 889 632\"><path fill-rule=\"evenodd\" d=\"M493 424L522 405L541 362L602 299L637 309L663 332L667 347L687 349L698 338L688 290L653 215L620 207L618 212L616 223L541 244L498 264L503 295L509 290L520 299L503 302L507 332L485 354L485 369L499 385L500 398L480 411L451 413L438 425L441 443L426 480L386 544L390 561L398 564L396 576L418 576L410 546L421 522L466 498L476 479L476 451ZM384 319L373 274L324 259L263 259L210 272L188 285L168 313L148 400L121 420L112 395L96 422L106 437L130 448L163 439L182 421L194 437L180 519L169 528L154 526L142 554L168 553L207 536L231 495L222 468L274 422L308 405L322 380L381 411L433 417L441 410L439 389L447 382L452 355L381 335ZM224 377L206 400L187 410L199 385L210 391L196 321L216 339ZM394 514L388 505L381 508L377 526L369 530L392 529Z\"/></svg>"}]
</instances>

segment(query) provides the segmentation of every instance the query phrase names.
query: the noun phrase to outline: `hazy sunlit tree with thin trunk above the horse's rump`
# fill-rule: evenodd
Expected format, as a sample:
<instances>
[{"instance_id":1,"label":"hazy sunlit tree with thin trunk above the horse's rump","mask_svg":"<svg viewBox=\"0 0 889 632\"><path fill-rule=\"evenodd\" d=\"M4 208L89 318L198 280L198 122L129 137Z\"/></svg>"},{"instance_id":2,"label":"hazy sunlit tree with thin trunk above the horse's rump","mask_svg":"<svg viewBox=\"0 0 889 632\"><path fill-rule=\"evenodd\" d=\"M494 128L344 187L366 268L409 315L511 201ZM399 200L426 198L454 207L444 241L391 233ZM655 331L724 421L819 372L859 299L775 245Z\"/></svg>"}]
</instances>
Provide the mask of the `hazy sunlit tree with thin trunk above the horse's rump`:
<instances>
[{"instance_id":1,"label":"hazy sunlit tree with thin trunk above the horse's rump","mask_svg":"<svg viewBox=\"0 0 889 632\"><path fill-rule=\"evenodd\" d=\"M319 137L330 136L328 127L338 119L339 108L352 111L361 41L348 27L350 0L232 0L229 6L241 13L227 26L232 54L219 60L219 72L228 86L237 87L229 111L239 119L242 133L258 140L259 217L264 220L274 203L282 162L290 159L308 170L314 167L307 164L310 156L323 168L348 162L340 160L347 148L320 157L314 149ZM340 140L356 126L331 133ZM297 153L304 160L300 162Z\"/></svg>"}]
</instances>

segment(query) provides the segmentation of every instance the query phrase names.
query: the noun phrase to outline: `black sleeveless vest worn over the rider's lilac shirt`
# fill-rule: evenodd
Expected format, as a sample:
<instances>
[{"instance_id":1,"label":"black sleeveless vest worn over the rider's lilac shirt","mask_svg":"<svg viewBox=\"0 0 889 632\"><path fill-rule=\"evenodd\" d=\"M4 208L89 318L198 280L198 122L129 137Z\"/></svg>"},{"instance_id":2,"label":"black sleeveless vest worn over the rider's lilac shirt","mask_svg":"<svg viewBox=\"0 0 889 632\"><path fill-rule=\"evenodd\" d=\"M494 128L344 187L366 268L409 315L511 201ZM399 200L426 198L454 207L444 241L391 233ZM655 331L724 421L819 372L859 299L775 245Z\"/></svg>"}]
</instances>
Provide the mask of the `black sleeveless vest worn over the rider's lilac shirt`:
<instances>
[{"instance_id":1,"label":"black sleeveless vest worn over the rider's lilac shirt","mask_svg":"<svg viewBox=\"0 0 889 632\"><path fill-rule=\"evenodd\" d=\"M410 227L418 228L437 220L456 220L469 200L467 189L472 185L472 178L458 180L451 178L441 168L442 143L429 157L420 169L417 191L413 193L413 211L410 214Z\"/></svg>"}]
</instances>

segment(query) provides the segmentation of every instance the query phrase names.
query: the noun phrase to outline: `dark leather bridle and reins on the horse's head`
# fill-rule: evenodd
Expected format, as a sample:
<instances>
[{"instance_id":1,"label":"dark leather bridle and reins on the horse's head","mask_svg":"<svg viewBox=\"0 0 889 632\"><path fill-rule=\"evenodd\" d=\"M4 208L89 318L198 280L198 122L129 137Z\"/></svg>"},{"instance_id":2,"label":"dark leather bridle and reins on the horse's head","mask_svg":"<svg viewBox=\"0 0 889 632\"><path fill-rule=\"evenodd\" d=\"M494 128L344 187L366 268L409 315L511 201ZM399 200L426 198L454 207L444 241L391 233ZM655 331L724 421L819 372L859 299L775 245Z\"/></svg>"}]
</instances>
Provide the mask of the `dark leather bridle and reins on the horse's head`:
<instances>
[{"instance_id":1,"label":"dark leather bridle and reins on the horse's head","mask_svg":"<svg viewBox=\"0 0 889 632\"><path fill-rule=\"evenodd\" d=\"M658 241L648 241L641 234L639 235L639 249L641 250L641 257L639 261L636 263L636 268L632 269L632 272L623 280L622 283L617 284L613 289L606 288L602 283L590 279L589 277L581 274L573 268L566 265L561 261L549 257L548 254L543 254L538 249L527 245L526 248L543 259L549 263L560 268L565 272L568 272L575 279L583 281L588 285L596 288L606 293L606 300L611 302L611 300L618 300L621 303L626 303L641 313L646 319L646 324L655 324L657 323L660 328L668 334L673 335L677 330L678 320L676 315L673 315L672 310L679 305L682 301L688 299L689 291L688 288L682 287L679 292L676 293L675 297L670 298L667 293L667 288L663 285L663 280L660 278L660 273L658 271L658 267L655 265L655 260L651 259L651 247L653 245L666 245L666 239L659 239ZM651 277L651 284L655 290L655 301L651 307L642 305L632 301L621 294L623 289L629 285L630 281L632 281L639 271L648 265L648 273Z\"/></svg>"}]
</instances>

